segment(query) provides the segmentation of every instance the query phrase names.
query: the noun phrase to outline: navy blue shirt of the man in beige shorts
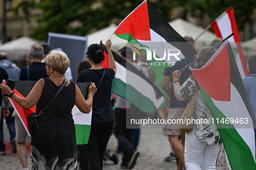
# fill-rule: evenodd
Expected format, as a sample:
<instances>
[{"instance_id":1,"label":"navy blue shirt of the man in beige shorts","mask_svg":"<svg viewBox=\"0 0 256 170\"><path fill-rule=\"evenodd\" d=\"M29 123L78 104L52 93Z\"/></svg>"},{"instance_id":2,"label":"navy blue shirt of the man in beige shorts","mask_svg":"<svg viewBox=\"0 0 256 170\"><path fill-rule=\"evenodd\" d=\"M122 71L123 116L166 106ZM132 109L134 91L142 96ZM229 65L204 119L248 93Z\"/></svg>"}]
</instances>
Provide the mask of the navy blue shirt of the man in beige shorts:
<instances>
[{"instance_id":1,"label":"navy blue shirt of the man in beige shorts","mask_svg":"<svg viewBox=\"0 0 256 170\"><path fill-rule=\"evenodd\" d=\"M172 66L172 68L165 68L165 72L164 72L164 75L165 76L169 76L171 77L171 81L172 81L172 72L174 72L175 70L181 70L183 69L186 65L188 65L189 63L191 63L192 61L194 61L195 59L195 56L192 56L192 57L187 57L185 59L181 59L181 61L177 61L175 63L174 66ZM190 69L185 69L182 73L181 73L181 77L179 79L179 83L180 85L183 85L183 83L188 79L188 77L192 74L192 72L190 71ZM174 90L173 90L173 87L171 89L171 99L170 99L170 105L169 105L169 108L176 108L176 107L187 107L187 104L188 104L188 100L186 101L178 101L176 98L175 98L175 95L174 95Z\"/></svg>"}]
</instances>

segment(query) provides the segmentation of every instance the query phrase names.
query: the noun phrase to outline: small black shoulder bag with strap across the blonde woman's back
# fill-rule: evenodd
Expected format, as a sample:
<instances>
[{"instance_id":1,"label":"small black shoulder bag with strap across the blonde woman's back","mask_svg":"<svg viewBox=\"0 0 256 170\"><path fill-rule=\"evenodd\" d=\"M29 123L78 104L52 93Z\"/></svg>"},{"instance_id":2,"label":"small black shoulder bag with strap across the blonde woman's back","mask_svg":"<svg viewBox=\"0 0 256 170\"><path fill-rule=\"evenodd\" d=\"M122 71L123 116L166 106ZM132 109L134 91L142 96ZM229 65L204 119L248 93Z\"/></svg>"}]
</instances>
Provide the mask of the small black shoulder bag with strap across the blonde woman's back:
<instances>
[{"instance_id":1,"label":"small black shoulder bag with strap across the blonde woman's back","mask_svg":"<svg viewBox=\"0 0 256 170\"><path fill-rule=\"evenodd\" d=\"M62 89L64 88L64 86L67 84L68 80L65 79L62 82L62 85L60 86L60 88L58 89L58 91L56 92L56 94L53 96L52 100L49 101L49 103L42 109L40 110L40 113L30 113L27 116L27 122L28 122L28 126L29 126L29 132L32 132L33 127L36 125L38 127L38 123L37 123L37 117L40 116L41 113L44 113L45 110L52 104L53 101L55 101L55 99L57 98L58 94L60 94L60 92L62 91Z\"/></svg>"}]
</instances>

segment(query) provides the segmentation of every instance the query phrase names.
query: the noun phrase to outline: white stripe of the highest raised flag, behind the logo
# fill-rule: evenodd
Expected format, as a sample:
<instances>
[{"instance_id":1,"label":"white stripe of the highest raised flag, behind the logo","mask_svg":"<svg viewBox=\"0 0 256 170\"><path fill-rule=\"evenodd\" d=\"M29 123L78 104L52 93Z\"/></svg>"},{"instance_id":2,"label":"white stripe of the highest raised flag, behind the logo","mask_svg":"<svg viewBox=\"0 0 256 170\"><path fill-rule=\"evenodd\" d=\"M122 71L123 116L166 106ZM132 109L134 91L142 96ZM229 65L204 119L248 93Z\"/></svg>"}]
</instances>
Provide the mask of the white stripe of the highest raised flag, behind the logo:
<instances>
[{"instance_id":1,"label":"white stripe of the highest raised flag, behind the logo","mask_svg":"<svg viewBox=\"0 0 256 170\"><path fill-rule=\"evenodd\" d=\"M167 59L167 49L169 48L175 48L177 49L176 47L174 47L172 44L170 43L167 43L167 41L162 38L159 34L157 34L155 31L153 31L151 28L150 28L150 36L151 36L151 41L144 41L144 40L138 40L141 44L143 45L146 45L147 47L149 47L152 52L153 52L153 48L156 49L156 55L160 58L162 58L164 56L164 51L163 49L166 48L166 57L165 57L165 61L166 62L173 62L173 63L176 63L178 60L172 56L170 57L170 60L168 61ZM153 42L166 42L166 43L153 43ZM181 43L181 42L180 42ZM176 52L177 53L177 52ZM178 55L178 58L179 59L183 59L185 58L185 56L181 53L180 55ZM161 62L161 61L159 61Z\"/></svg>"}]
</instances>

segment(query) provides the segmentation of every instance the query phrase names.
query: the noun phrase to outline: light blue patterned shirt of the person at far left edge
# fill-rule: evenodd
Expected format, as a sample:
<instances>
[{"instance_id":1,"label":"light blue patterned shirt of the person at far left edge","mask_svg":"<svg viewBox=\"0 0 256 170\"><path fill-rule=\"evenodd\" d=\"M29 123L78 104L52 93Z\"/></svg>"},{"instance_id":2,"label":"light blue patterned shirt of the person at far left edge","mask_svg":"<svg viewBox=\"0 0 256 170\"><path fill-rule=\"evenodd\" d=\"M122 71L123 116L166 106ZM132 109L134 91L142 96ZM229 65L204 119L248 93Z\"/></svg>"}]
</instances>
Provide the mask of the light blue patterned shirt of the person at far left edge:
<instances>
[{"instance_id":1,"label":"light blue patterned shirt of the person at far left edge","mask_svg":"<svg viewBox=\"0 0 256 170\"><path fill-rule=\"evenodd\" d=\"M5 69L5 71L8 74L9 79L19 80L19 67L16 66L16 64L5 59L5 60L0 61L0 67ZM3 107L4 107L4 103L3 103ZM13 108L13 105L11 104L11 102L9 102L9 107Z\"/></svg>"}]
</instances>

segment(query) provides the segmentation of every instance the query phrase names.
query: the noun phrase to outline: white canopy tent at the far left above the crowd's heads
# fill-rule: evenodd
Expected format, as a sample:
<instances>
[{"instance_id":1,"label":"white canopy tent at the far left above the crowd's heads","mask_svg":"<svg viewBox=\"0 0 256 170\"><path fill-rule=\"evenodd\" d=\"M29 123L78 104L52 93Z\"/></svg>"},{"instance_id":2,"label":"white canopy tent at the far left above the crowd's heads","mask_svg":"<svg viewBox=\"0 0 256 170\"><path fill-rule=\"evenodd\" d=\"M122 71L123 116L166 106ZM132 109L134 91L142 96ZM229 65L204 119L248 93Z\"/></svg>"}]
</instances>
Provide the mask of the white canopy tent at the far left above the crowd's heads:
<instances>
[{"instance_id":1,"label":"white canopy tent at the far left above the crowd's heads","mask_svg":"<svg viewBox=\"0 0 256 170\"><path fill-rule=\"evenodd\" d=\"M39 43L40 41L36 39L29 37L21 37L2 44L0 46L0 52L6 52L9 60L19 60L20 57L28 56L29 47L32 44Z\"/></svg>"}]
</instances>

